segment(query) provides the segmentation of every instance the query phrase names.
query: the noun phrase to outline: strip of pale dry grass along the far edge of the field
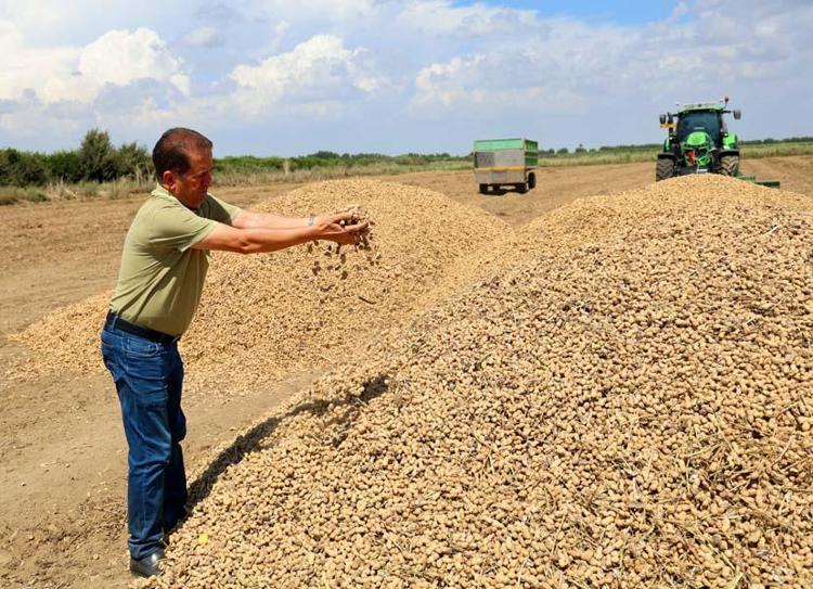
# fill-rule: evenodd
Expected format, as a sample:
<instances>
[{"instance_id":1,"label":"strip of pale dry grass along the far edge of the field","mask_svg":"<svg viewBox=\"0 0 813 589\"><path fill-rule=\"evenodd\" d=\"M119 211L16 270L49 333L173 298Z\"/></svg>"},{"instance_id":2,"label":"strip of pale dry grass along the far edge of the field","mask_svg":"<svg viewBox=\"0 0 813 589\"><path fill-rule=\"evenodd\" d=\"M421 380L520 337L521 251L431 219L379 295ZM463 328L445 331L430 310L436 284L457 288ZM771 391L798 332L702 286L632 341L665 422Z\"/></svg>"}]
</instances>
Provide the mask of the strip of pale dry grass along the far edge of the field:
<instances>
[{"instance_id":1,"label":"strip of pale dry grass along the far edge of the field","mask_svg":"<svg viewBox=\"0 0 813 589\"><path fill-rule=\"evenodd\" d=\"M744 159L813 155L813 142L786 142L771 144L744 144ZM567 155L542 156L540 167L631 164L654 162L658 148L611 151L593 151ZM472 166L468 157L450 157L427 163L374 162L361 165L314 166L288 171L280 167L263 167L259 158L224 158L217 161L215 184L219 187L258 185L275 182L314 182L350 176L390 176L415 171L461 170ZM23 202L44 202L69 199L118 199L137 192L145 192L154 185L153 180L137 182L120 179L114 182L82 182L78 184L52 183L44 187L0 187L0 205Z\"/></svg>"}]
</instances>

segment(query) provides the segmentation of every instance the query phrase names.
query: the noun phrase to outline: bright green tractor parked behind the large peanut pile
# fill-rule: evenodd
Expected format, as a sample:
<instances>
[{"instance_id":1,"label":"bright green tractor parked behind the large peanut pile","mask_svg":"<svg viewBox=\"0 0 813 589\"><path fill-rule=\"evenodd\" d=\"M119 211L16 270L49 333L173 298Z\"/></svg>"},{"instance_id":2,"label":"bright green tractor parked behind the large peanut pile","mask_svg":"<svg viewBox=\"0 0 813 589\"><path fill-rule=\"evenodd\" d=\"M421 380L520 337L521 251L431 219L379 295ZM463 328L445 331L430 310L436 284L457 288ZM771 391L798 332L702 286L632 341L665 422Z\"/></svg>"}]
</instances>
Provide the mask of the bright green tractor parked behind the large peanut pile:
<instances>
[{"instance_id":1,"label":"bright green tractor parked behind the large peanut pile","mask_svg":"<svg viewBox=\"0 0 813 589\"><path fill-rule=\"evenodd\" d=\"M678 113L660 115L660 126L669 129L669 137L658 154L656 181L686 174L739 176L737 136L728 132L723 115L732 113L739 120L740 112L727 106L725 97L719 102L681 105Z\"/></svg>"}]
</instances>

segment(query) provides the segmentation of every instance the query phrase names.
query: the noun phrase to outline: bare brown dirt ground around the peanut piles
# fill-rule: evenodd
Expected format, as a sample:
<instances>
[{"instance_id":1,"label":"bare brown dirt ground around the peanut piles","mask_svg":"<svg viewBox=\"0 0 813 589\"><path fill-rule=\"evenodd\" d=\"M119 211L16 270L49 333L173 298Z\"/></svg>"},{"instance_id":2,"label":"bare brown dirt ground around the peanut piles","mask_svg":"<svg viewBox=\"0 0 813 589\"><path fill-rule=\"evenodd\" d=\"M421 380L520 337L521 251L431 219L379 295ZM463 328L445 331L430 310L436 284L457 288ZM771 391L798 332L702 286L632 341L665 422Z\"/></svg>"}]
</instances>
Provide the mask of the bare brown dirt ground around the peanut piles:
<instances>
[{"instance_id":1,"label":"bare brown dirt ground around the peanut piles","mask_svg":"<svg viewBox=\"0 0 813 589\"><path fill-rule=\"evenodd\" d=\"M813 196L813 157L747 162L744 171ZM442 192L516 228L575 199L645 185L654 179L654 166L545 168L538 174L538 188L525 195L480 195L470 171L380 179ZM245 207L296 187L214 192ZM0 367L27 354L9 343L7 334L114 286L121 243L142 201L139 195L0 208ZM215 450L234 441L323 369L291 374L274 388L249 396L186 402L190 484L195 473L224 469L229 454ZM109 379L62 375L21 384L0 369L0 585L127 586L127 451Z\"/></svg>"}]
</instances>

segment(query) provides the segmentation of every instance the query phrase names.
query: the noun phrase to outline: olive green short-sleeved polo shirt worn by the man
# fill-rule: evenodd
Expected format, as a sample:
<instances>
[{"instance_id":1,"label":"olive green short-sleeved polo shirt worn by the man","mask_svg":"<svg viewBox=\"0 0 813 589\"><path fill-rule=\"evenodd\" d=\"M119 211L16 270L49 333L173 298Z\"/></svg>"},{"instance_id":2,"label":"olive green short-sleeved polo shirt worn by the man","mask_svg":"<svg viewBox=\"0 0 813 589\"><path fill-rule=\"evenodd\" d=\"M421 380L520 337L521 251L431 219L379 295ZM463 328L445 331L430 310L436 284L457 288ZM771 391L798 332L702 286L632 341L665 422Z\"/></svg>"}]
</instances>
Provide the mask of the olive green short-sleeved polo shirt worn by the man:
<instances>
[{"instance_id":1,"label":"olive green short-sleeved polo shirt worn by the man","mask_svg":"<svg viewBox=\"0 0 813 589\"><path fill-rule=\"evenodd\" d=\"M210 253L192 246L219 223L231 225L240 213L211 194L192 210L157 187L127 232L111 310L144 328L183 334L209 268Z\"/></svg>"}]
</instances>

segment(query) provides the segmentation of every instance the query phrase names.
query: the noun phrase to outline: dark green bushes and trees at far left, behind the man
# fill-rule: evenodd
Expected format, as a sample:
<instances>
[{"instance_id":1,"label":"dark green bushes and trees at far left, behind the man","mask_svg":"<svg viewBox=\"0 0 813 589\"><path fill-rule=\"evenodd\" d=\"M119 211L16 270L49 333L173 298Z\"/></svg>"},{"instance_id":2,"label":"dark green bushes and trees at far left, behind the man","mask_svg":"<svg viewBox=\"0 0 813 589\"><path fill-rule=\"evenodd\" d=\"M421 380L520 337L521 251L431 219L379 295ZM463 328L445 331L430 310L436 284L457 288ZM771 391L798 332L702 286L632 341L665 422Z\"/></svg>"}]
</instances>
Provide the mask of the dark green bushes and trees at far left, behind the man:
<instances>
[{"instance_id":1,"label":"dark green bushes and trees at far left, behind the man","mask_svg":"<svg viewBox=\"0 0 813 589\"><path fill-rule=\"evenodd\" d=\"M0 185L29 187L51 182L107 182L124 177L138 180L152 174L146 148L125 143L115 148L107 131L92 129L74 151L49 154L0 150Z\"/></svg>"}]
</instances>

